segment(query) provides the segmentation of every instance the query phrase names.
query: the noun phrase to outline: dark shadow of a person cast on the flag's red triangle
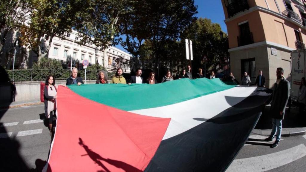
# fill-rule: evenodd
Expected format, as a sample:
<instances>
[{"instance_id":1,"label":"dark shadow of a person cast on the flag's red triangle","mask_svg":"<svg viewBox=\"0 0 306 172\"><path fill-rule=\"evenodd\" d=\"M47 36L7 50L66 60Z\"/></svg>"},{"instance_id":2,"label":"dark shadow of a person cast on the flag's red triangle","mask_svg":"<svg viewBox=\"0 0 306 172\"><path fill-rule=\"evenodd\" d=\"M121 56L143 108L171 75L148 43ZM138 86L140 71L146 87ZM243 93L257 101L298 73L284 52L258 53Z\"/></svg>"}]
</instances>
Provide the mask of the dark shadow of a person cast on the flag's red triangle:
<instances>
[{"instance_id":1,"label":"dark shadow of a person cast on the flag's red triangle","mask_svg":"<svg viewBox=\"0 0 306 172\"><path fill-rule=\"evenodd\" d=\"M105 172L110 172L110 170L107 169L106 166L104 166L104 164L101 161L109 163L110 165L113 165L113 166L115 166L117 168L121 168L122 170L125 170L126 172L142 172L142 170L139 170L136 167L131 166L131 165L125 163L125 162L117 161L117 160L113 160L113 159L105 159L105 158L103 158L102 156L100 156L96 152L94 152L91 149L89 149L88 146L84 144L84 142L83 142L83 140L81 138L79 138L79 144L80 144L80 146L82 146L85 149L85 151L87 152L87 155L95 163L97 163L99 166L101 166L103 168L103 170L105 170ZM82 156L85 156L85 155L82 155Z\"/></svg>"}]
</instances>

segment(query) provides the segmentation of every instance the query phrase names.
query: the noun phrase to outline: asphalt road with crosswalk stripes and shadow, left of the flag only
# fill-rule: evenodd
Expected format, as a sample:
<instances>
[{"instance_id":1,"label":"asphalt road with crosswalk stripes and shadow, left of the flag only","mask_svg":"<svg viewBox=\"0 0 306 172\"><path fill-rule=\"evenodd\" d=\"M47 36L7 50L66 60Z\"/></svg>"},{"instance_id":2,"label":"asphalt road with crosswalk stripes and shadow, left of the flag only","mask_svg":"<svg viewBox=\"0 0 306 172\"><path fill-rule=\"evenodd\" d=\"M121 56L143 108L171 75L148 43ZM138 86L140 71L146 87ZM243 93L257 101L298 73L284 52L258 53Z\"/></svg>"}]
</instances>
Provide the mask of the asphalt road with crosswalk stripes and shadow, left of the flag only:
<instances>
[{"instance_id":1,"label":"asphalt road with crosswalk stripes and shadow, left of the flag only","mask_svg":"<svg viewBox=\"0 0 306 172\"><path fill-rule=\"evenodd\" d=\"M43 118L43 105L0 110L0 171L36 171L46 164L51 136Z\"/></svg>"}]
</instances>

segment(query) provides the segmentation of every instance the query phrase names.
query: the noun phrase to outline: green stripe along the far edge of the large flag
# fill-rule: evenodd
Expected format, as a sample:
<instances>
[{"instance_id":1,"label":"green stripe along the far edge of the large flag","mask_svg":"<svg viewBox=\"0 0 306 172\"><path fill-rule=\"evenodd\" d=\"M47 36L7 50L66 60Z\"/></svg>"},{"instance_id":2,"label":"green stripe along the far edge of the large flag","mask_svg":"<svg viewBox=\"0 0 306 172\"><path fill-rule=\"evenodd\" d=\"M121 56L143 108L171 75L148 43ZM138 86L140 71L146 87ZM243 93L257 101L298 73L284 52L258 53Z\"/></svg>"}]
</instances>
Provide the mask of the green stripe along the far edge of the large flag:
<instances>
[{"instance_id":1,"label":"green stripe along the far edge of the large flag","mask_svg":"<svg viewBox=\"0 0 306 172\"><path fill-rule=\"evenodd\" d=\"M235 87L220 79L181 79L162 84L83 84L68 86L75 93L121 110L161 107ZM84 107L86 108L86 107Z\"/></svg>"}]
</instances>

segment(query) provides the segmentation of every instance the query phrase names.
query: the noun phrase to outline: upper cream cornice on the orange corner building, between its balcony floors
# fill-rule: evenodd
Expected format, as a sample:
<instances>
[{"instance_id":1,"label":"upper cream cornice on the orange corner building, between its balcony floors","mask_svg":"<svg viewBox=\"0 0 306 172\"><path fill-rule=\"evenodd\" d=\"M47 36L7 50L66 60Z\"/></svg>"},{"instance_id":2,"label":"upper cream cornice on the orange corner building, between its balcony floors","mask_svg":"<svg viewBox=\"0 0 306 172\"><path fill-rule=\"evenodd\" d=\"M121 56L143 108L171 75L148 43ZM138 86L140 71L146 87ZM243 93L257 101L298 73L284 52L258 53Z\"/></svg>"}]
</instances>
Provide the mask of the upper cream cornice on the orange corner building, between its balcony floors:
<instances>
[{"instance_id":1,"label":"upper cream cornice on the orange corner building, between its balcony floors","mask_svg":"<svg viewBox=\"0 0 306 172\"><path fill-rule=\"evenodd\" d=\"M252 7L252 8L249 8L249 9L246 10L246 11L237 13L235 16L230 17L230 18L224 20L224 22L227 23L227 22L233 21L233 20L235 20L235 19L237 19L237 18L239 18L239 17L241 17L241 16L244 16L244 15L246 15L246 14L248 14L248 13L252 13L253 11L256 11L256 10L263 11L263 12L266 12L266 13L270 13L270 14L276 16L276 17L279 17L279 18L284 19L284 20L287 20L287 21L289 21L289 22L291 22L291 23L293 23L293 24L296 24L296 25L299 26L300 28L305 29L304 25L301 24L300 22L298 22L297 20L295 20L295 19L293 19L293 18L286 17L286 16L284 16L284 15L282 15L282 14L280 14L280 13L277 13L277 12L272 11L272 10L270 10L270 9L263 8L263 7L261 7L261 6L254 6L254 7Z\"/></svg>"}]
</instances>

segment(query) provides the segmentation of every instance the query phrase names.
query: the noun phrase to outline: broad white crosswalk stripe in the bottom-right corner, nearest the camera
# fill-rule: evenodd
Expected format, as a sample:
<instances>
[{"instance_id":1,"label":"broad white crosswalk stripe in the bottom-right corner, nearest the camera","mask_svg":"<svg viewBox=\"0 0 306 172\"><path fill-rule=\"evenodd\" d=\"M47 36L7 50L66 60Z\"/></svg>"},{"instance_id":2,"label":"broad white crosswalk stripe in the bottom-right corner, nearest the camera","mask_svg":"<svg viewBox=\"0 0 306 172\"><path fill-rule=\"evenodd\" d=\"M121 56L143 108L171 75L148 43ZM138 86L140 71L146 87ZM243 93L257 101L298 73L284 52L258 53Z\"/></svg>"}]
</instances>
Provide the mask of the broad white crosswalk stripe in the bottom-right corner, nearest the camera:
<instances>
[{"instance_id":1,"label":"broad white crosswalk stripe in the bottom-right corner, nearest the camera","mask_svg":"<svg viewBox=\"0 0 306 172\"><path fill-rule=\"evenodd\" d=\"M283 151L251 158L235 159L226 172L263 172L291 163L306 155L306 147L300 144Z\"/></svg>"}]
</instances>

